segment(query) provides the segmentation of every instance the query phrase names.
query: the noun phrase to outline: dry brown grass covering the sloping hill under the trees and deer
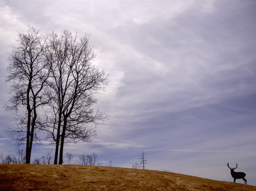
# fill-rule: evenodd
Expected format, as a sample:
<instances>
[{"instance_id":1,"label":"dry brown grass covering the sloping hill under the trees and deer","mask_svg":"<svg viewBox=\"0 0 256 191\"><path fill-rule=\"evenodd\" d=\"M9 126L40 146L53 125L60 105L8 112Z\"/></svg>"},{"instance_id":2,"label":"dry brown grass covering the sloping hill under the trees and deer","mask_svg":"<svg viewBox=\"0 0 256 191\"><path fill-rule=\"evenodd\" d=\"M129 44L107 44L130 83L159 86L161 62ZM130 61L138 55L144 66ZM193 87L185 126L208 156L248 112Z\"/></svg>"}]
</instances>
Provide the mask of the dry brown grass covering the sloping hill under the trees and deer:
<instances>
[{"instance_id":1,"label":"dry brown grass covering the sloping hill under the trees and deer","mask_svg":"<svg viewBox=\"0 0 256 191\"><path fill-rule=\"evenodd\" d=\"M131 168L0 164L0 190L256 190L256 187Z\"/></svg>"}]
</instances>

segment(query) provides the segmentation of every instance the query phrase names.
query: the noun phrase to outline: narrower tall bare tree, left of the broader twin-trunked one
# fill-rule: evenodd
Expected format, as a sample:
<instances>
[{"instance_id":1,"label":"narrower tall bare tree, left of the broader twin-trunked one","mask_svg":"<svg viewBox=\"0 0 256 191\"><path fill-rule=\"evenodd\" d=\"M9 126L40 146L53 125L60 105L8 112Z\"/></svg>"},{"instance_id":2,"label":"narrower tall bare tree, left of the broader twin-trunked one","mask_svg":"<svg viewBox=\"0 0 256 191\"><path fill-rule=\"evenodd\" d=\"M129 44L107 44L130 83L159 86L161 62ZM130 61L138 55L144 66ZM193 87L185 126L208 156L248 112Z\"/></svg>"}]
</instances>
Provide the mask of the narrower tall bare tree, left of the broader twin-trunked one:
<instances>
[{"instance_id":1,"label":"narrower tall bare tree, left of the broader twin-trunked one","mask_svg":"<svg viewBox=\"0 0 256 191\"><path fill-rule=\"evenodd\" d=\"M46 37L35 28L29 27L27 33L18 35L19 45L13 48L9 56L6 81L11 82L7 111L18 112L20 107L26 108L17 114L17 123L9 127L9 132L19 147L26 143L26 163L30 163L32 143L39 141L36 135L36 123L39 120L38 108L48 102L44 86L49 78L49 65L46 62Z\"/></svg>"}]
</instances>

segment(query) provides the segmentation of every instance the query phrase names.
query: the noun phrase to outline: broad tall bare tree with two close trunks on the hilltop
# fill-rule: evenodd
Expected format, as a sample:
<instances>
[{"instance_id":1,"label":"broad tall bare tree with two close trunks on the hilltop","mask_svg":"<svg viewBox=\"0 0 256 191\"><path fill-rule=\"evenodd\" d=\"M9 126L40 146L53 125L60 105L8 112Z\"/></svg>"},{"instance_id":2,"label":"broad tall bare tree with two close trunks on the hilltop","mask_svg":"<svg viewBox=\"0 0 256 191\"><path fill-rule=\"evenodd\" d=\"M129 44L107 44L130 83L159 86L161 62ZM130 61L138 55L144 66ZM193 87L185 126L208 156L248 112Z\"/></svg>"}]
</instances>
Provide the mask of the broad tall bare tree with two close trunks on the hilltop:
<instances>
[{"instance_id":1,"label":"broad tall bare tree with two close trunks on the hilltop","mask_svg":"<svg viewBox=\"0 0 256 191\"><path fill-rule=\"evenodd\" d=\"M73 36L64 31L59 38L56 33L50 35L51 49L47 52L47 61L51 66L51 116L47 116L48 138L56 144L54 164L63 163L64 143L82 140L90 142L96 137L96 131L87 129L86 124L95 127L102 125L108 116L100 111L94 112L97 103L94 94L105 90L108 75L92 65L95 54L88 44L87 36ZM60 146L60 152L59 152Z\"/></svg>"}]
</instances>

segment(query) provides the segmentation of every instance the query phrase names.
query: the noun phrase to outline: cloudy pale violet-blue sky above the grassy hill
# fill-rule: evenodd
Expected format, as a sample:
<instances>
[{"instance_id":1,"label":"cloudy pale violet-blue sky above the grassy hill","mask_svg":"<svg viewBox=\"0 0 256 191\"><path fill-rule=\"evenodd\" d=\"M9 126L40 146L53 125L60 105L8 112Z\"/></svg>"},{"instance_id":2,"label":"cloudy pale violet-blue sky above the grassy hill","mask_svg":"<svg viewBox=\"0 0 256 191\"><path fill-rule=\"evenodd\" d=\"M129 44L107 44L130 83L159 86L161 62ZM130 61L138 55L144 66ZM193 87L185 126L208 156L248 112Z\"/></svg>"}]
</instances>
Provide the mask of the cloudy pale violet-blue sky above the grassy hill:
<instances>
[{"instance_id":1,"label":"cloudy pale violet-blue sky above the grassy hill","mask_svg":"<svg viewBox=\"0 0 256 191\"><path fill-rule=\"evenodd\" d=\"M0 152L15 154L4 129L15 113L5 82L7 58L28 25L44 35L90 35L110 74L94 108L109 114L91 143L64 146L98 155L101 165L147 169L256 186L256 1L0 0ZM42 135L32 160L54 148ZM65 156L64 156L65 160ZM243 183L243 180L237 180Z\"/></svg>"}]
</instances>

